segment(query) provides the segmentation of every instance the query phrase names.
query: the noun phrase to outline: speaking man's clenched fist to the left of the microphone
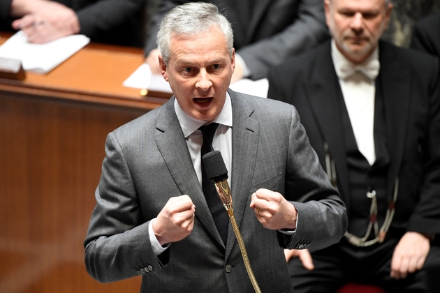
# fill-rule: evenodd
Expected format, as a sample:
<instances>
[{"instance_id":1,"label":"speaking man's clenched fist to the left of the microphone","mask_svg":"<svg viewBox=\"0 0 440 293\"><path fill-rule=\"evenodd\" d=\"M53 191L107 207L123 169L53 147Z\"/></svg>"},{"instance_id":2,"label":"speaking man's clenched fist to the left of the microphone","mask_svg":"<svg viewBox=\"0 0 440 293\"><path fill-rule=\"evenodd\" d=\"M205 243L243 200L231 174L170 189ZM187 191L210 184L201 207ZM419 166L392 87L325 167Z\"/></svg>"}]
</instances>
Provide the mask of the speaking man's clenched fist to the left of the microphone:
<instances>
[{"instance_id":1,"label":"speaking man's clenched fist to the left of the microphone","mask_svg":"<svg viewBox=\"0 0 440 293\"><path fill-rule=\"evenodd\" d=\"M188 195L171 197L153 222L161 246L184 239L194 227L196 206Z\"/></svg>"}]
</instances>

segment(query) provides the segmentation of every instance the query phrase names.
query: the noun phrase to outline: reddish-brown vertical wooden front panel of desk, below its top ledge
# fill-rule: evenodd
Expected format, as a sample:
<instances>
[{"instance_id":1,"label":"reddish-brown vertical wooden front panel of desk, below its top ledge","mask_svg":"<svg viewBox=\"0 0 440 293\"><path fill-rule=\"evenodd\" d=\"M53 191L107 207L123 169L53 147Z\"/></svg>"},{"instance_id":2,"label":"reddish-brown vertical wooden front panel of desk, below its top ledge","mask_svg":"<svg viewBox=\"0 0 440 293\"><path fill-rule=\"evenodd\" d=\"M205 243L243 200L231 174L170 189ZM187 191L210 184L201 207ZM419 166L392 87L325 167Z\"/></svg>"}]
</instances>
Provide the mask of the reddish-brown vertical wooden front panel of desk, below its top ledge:
<instances>
[{"instance_id":1,"label":"reddish-brown vertical wooden front panel of desk, below its top ledge","mask_svg":"<svg viewBox=\"0 0 440 293\"><path fill-rule=\"evenodd\" d=\"M147 110L0 91L0 292L139 292L84 264L106 135Z\"/></svg>"}]
</instances>

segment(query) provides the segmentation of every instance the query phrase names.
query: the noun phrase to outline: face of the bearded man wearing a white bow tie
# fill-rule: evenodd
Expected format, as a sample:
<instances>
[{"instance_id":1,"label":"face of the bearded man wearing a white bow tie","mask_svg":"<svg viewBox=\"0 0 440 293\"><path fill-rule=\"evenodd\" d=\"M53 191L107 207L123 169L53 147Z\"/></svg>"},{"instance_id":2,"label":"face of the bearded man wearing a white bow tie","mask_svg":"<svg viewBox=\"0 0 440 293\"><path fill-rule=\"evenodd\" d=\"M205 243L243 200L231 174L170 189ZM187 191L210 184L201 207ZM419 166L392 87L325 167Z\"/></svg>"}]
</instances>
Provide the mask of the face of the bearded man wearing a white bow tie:
<instances>
[{"instance_id":1,"label":"face of the bearded man wearing a white bow tie","mask_svg":"<svg viewBox=\"0 0 440 293\"><path fill-rule=\"evenodd\" d=\"M393 9L385 0L325 0L324 6L338 50L354 63L373 52Z\"/></svg>"}]
</instances>

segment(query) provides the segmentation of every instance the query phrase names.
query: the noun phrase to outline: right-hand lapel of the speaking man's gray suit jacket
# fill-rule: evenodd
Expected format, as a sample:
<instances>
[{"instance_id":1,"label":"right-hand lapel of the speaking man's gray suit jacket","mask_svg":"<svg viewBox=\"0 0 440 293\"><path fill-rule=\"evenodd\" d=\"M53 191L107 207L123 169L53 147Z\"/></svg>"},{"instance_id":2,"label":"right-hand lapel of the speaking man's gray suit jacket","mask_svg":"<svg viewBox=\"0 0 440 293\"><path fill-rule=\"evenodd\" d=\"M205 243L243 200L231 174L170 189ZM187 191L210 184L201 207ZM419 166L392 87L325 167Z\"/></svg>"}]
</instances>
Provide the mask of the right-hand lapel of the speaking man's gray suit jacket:
<instances>
[{"instance_id":1,"label":"right-hand lapel of the speaking man's gray suit jacket","mask_svg":"<svg viewBox=\"0 0 440 293\"><path fill-rule=\"evenodd\" d=\"M239 93L229 90L233 108L233 162L232 186L233 209L238 227L243 217L244 210L250 204L250 188L256 163L258 149L259 124L251 118L254 107L246 100L240 98ZM226 257L235 242L233 229L228 231L228 245Z\"/></svg>"}]
</instances>

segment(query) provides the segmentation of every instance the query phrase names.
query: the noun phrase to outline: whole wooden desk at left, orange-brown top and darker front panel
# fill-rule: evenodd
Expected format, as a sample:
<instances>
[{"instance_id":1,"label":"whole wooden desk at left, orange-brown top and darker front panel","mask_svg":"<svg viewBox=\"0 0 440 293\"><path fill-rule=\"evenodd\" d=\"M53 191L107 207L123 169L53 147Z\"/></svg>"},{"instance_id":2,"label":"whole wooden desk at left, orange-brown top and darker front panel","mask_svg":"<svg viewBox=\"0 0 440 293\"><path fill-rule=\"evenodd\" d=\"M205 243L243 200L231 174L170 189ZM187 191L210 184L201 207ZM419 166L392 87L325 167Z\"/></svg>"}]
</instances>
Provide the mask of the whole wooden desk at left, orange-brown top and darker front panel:
<instances>
[{"instance_id":1,"label":"whole wooden desk at left, orange-brown top and darker front panel","mask_svg":"<svg viewBox=\"0 0 440 293\"><path fill-rule=\"evenodd\" d=\"M0 292L140 290L140 277L93 280L82 247L106 135L168 98L122 87L143 56L121 49L88 45L47 75L0 80Z\"/></svg>"}]
</instances>

